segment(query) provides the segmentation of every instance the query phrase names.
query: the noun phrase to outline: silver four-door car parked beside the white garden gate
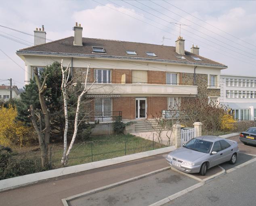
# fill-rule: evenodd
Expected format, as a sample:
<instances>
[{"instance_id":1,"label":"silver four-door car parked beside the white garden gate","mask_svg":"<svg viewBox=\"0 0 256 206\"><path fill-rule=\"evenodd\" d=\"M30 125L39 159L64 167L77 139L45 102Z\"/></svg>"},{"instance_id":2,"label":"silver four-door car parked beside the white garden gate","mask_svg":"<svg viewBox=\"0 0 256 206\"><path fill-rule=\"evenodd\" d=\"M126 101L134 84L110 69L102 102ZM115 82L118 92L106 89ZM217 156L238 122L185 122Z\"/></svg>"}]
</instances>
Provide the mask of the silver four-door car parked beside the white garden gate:
<instances>
[{"instance_id":1,"label":"silver four-door car parked beside the white garden gate","mask_svg":"<svg viewBox=\"0 0 256 206\"><path fill-rule=\"evenodd\" d=\"M238 154L237 142L233 140L217 136L200 136L170 152L166 160L180 171L206 175L207 169L220 163L230 161L231 164L235 164Z\"/></svg>"}]
</instances>

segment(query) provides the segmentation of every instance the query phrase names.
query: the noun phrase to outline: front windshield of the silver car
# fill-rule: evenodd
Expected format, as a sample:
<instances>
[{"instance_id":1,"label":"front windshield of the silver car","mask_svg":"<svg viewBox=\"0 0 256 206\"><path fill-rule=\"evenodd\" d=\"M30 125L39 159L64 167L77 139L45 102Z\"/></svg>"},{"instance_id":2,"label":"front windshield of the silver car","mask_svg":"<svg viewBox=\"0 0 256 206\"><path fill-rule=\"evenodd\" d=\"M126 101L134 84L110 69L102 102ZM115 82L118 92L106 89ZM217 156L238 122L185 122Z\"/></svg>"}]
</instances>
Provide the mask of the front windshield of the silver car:
<instances>
[{"instance_id":1,"label":"front windshield of the silver car","mask_svg":"<svg viewBox=\"0 0 256 206\"><path fill-rule=\"evenodd\" d=\"M210 153L212 142L193 138L187 142L184 147L198 152Z\"/></svg>"}]
</instances>

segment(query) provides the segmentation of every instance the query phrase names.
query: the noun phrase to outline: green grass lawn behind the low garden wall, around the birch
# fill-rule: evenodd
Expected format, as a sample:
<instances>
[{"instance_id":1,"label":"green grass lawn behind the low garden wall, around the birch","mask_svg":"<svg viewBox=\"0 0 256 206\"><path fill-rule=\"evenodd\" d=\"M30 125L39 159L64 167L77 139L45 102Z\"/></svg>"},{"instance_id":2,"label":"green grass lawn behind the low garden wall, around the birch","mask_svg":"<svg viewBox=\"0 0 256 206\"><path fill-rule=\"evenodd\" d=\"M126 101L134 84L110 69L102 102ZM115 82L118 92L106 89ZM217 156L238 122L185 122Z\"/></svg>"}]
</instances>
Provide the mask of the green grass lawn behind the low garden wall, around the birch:
<instances>
[{"instance_id":1,"label":"green grass lawn behind the low garden wall, around the birch","mask_svg":"<svg viewBox=\"0 0 256 206\"><path fill-rule=\"evenodd\" d=\"M142 138L120 141L113 139L80 142L72 148L68 166L131 155L163 147L166 147L166 145ZM49 155L50 163L58 167L61 161L61 150L52 149Z\"/></svg>"}]
</instances>

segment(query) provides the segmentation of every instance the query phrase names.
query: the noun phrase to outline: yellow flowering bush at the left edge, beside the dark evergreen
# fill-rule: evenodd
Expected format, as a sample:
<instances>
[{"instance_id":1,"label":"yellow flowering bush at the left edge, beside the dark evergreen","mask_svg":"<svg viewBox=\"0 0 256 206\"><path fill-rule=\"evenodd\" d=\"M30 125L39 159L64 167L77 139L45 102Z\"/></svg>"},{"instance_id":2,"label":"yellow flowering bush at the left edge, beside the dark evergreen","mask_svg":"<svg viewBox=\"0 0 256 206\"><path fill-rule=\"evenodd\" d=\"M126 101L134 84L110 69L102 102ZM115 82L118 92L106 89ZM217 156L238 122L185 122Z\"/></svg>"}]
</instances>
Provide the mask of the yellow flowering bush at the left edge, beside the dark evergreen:
<instances>
[{"instance_id":1,"label":"yellow flowering bush at the left edge, beside the dark evergreen","mask_svg":"<svg viewBox=\"0 0 256 206\"><path fill-rule=\"evenodd\" d=\"M24 126L21 121L16 121L16 116L15 107L0 107L0 145L9 146L14 143L23 146L33 136L31 128Z\"/></svg>"}]
</instances>

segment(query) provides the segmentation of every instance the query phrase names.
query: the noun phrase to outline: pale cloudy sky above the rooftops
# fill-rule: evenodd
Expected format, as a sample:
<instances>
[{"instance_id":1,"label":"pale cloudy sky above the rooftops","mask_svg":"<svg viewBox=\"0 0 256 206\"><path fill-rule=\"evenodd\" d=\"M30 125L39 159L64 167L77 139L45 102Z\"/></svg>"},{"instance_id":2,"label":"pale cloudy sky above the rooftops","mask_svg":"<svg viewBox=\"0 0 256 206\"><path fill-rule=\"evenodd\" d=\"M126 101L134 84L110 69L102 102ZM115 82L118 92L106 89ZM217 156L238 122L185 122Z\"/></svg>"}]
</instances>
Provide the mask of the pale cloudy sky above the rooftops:
<instances>
[{"instance_id":1,"label":"pale cloudy sky above the rooftops","mask_svg":"<svg viewBox=\"0 0 256 206\"><path fill-rule=\"evenodd\" d=\"M222 74L256 76L255 8L256 1L4 1L0 6L0 84L8 85L12 78L13 84L23 87L25 63L15 53L34 44L36 27L44 25L46 38L57 40L73 36L75 22L81 23L83 37L153 44L162 44L165 37L164 45L170 46L175 46L177 24L182 24L187 51L194 43L199 55L228 66Z\"/></svg>"}]
</instances>

